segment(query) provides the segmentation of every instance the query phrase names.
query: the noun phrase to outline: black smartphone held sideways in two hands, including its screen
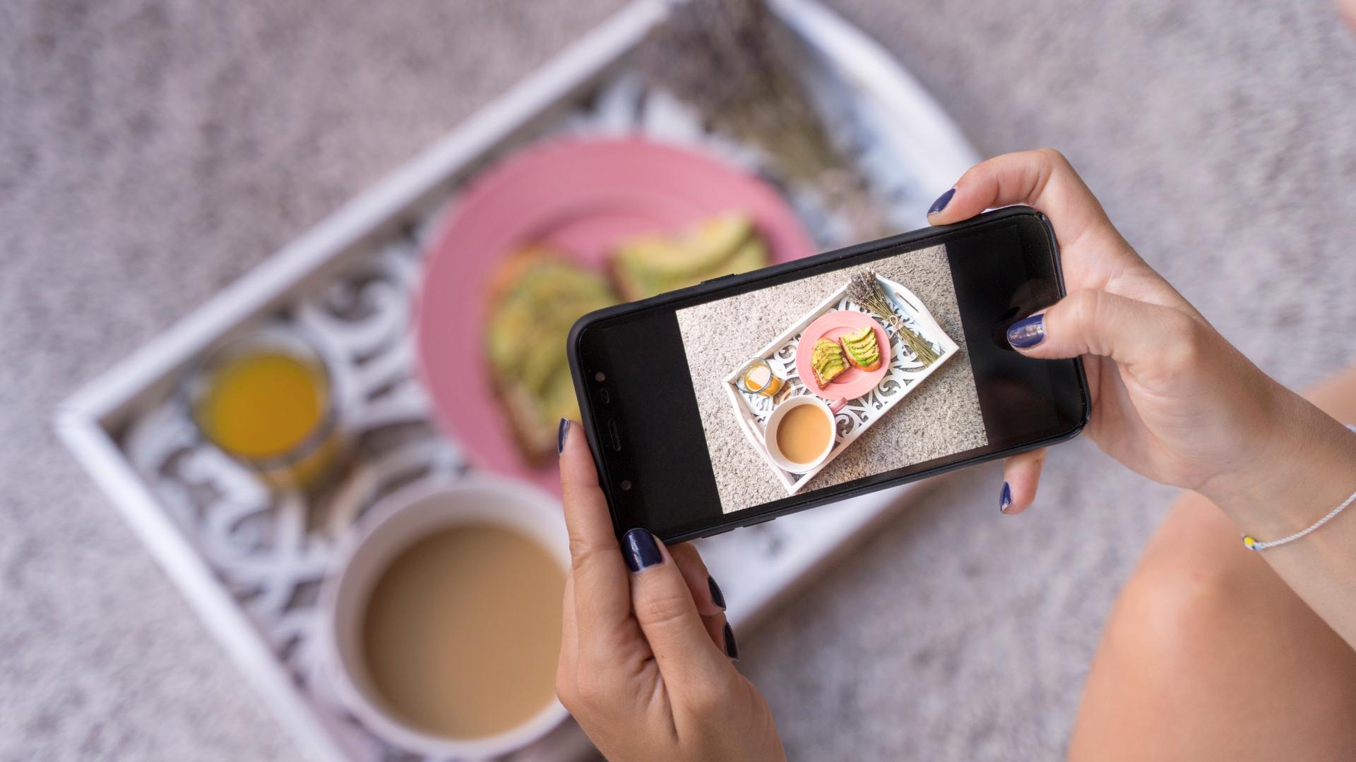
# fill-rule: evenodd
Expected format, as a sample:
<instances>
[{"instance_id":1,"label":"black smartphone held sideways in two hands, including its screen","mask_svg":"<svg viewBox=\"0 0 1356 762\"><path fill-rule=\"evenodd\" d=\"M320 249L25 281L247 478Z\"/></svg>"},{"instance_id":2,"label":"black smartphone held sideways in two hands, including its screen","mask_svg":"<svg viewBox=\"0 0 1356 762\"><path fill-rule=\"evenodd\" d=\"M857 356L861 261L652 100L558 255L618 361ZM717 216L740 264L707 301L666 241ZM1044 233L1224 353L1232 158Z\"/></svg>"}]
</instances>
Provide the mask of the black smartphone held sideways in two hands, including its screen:
<instances>
[{"instance_id":1,"label":"black smartphone held sideways in two hands, including its screen","mask_svg":"<svg viewBox=\"0 0 1356 762\"><path fill-rule=\"evenodd\" d=\"M858 273L894 316L846 297ZM1081 361L1006 340L1063 294L1050 222L1013 206L586 315L570 365L617 533L704 537L1077 435ZM838 309L850 328L816 327Z\"/></svg>"}]
</instances>

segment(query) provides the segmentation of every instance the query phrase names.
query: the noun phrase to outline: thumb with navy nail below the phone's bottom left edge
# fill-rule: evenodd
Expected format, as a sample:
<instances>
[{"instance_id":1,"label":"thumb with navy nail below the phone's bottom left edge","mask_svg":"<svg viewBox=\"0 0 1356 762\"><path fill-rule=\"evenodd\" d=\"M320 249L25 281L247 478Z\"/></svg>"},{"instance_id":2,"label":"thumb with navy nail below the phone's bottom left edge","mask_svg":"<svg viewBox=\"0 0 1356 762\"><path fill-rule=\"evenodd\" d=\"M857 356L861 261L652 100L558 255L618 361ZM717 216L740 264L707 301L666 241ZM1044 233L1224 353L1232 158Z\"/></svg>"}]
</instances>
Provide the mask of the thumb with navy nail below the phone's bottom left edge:
<instances>
[{"instance_id":1,"label":"thumb with navy nail below the phone's bottom left edge","mask_svg":"<svg viewBox=\"0 0 1356 762\"><path fill-rule=\"evenodd\" d=\"M671 693L689 696L728 679L730 658L712 643L682 568L644 529L621 541L631 568L631 602Z\"/></svg>"}]
</instances>

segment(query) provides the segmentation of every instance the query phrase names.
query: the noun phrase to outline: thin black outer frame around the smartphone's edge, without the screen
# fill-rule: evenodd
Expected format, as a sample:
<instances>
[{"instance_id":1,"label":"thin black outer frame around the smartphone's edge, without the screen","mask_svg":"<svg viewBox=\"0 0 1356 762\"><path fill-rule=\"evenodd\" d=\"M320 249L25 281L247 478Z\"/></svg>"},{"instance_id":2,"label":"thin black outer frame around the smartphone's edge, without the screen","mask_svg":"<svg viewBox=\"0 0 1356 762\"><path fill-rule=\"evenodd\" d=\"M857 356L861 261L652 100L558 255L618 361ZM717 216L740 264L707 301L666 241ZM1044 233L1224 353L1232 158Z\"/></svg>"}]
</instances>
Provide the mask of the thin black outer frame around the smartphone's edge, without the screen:
<instances>
[{"instance_id":1,"label":"thin black outer frame around the smartphone's edge, without the screen","mask_svg":"<svg viewBox=\"0 0 1356 762\"><path fill-rule=\"evenodd\" d=\"M898 236L891 236L891 237L879 239L879 240L873 240L873 241L865 241L865 243L860 243L860 244L843 247L843 248L839 248L839 249L834 249L834 251L818 254L818 255L814 255L814 256L801 258L801 259L797 259L797 260L793 260L793 262L785 262L785 263L781 263L781 264L773 264L770 267L763 267L761 270L754 270L751 273L744 273L744 274L739 274L739 275L721 275L721 277L713 278L711 281L704 281L704 282L701 282L701 283L698 283L696 286L689 286L686 289L679 289L677 292L663 293L663 294L659 294L659 296L655 296L655 297L650 297L650 298L645 298L645 300L640 300L640 301L635 301L635 302L626 302L626 304L620 304L620 305L603 308L603 309L599 309L599 310L595 310L595 312L590 312L589 315L584 315L570 329L570 336L567 339L567 355L568 355L568 359L570 359L570 372L571 372L571 374L574 377L575 396L579 400L579 409L580 409L580 419L582 419L579 423L580 423L580 426L582 426L582 428L584 431L586 439L589 441L590 454L593 456L595 468L598 468L598 473L605 476L606 470L607 470L607 465L606 465L606 462L598 454L599 452L602 452L601 431L599 431L599 428L598 428L598 426L595 423L595 420L598 418L598 415L597 415L598 411L594 408L593 396L589 393L587 384L590 382L590 380L584 378L584 374L583 374L583 370L582 370L586 363L583 363L582 359L580 359L580 357L579 357L580 340L583 338L583 334L590 327L593 327L593 325L595 325L598 323L606 321L606 320L612 320L612 319L620 317L620 316L625 316L625 315L631 315L631 313L637 313L637 312L644 312L644 310L655 309L655 308L663 308L666 305L670 305L670 304L674 304L674 302L679 302L679 301L686 301L686 300L693 298L693 297L713 297L713 298L719 298L719 294L721 292L734 292L734 290L738 290L738 289L740 289L743 286L747 286L747 285L751 285L751 283L757 283L759 281L765 281L765 279L769 279L769 278L776 278L778 275L784 275L784 274L788 274L788 273L795 273L797 270L805 270L805 268L818 267L818 266L822 266L822 264L841 262L843 259L850 259L850 258L860 256L860 255L866 255L866 254L877 252L877 251L884 249L884 248L899 247L899 245L910 245L911 248L925 248L926 247L926 241L929 239L937 239L937 237L948 236L948 235L955 233L955 232L967 230L970 228L975 228L975 226L980 226L980 225L997 222L997 221L1001 221L1001 220L1009 220L1009 218L1013 218L1013 217L1032 217L1032 218L1037 220L1040 222L1040 225L1044 228L1045 237L1048 239L1048 243L1050 243L1050 247L1051 247L1051 255L1054 256L1054 260L1055 260L1055 282L1056 282L1058 289L1059 289L1059 296L1064 297L1067 292L1064 289L1064 274L1063 274L1063 267L1062 267L1060 255L1059 255L1059 241L1055 239L1055 230L1050 225L1050 220L1047 220L1044 214L1041 214L1040 212L1037 212L1036 209L1032 209L1029 206L1006 206L1006 207L1002 207L1002 209L995 209L993 212L986 212L983 214L979 214L979 216L972 217L970 220L965 220L963 222L956 222L956 224L952 224L952 225L937 225L937 226L933 226L933 228L922 228L922 229L918 229L918 230L911 230L911 232L907 232L907 233L900 233ZM942 465L938 465L938 466L934 466L934 468L929 468L929 469L925 469L925 470L921 470L921 472L917 472L917 473L900 475L900 476L896 476L896 477L892 477L892 479L888 479L888 480L884 480L884 481L873 483L873 484L864 484L864 485L858 485L858 487L849 487L846 489L841 489L841 491L837 491L837 492L833 492L833 494L827 494L827 495L823 495L823 496L819 496L819 498L808 498L804 503L797 503L797 504L793 504L793 506L785 506L782 508L777 508L777 510L772 510L772 511L758 513L758 514L755 514L753 517L742 515L743 511L736 511L736 513L731 513L731 514L721 514L721 517L715 518L706 526L701 526L701 527L697 527L697 529L690 529L690 530L679 532L679 533L674 533L674 534L663 534L663 533L659 533L659 532L656 532L656 534L659 536L660 540L663 540L667 544L682 542L682 541L686 541L686 540L696 540L698 537L711 537L713 534L720 534L720 533L724 533L724 532L730 532L730 530L740 527L740 526L753 526L753 525L757 525L757 523L763 523L763 522L772 521L774 518L778 518L778 517L782 517L782 515L788 515L788 514L793 514L793 513L799 513L799 511L803 511L803 510L807 510L807 508L814 508L814 507L823 506L823 504L827 504L827 503L834 503L834 502L838 502L838 500L845 500L845 499L849 499L849 498L856 498L858 495L865 495L865 494L869 494L869 492L876 492L879 489L887 489L890 487L896 487L899 484L907 484L907 483L911 483L911 481L918 481L921 479L929 479L929 477L938 476L938 475L942 475L942 473L948 473L948 472L952 472L952 470L956 470L956 469L960 469L960 468L968 468L968 466L978 465L978 464L982 464L982 462L989 462L991 460L1005 458L1005 457L1014 456L1014 454L1018 454L1018 453L1024 453L1024 452L1028 452L1028 450L1047 447L1050 445L1055 445L1055 443L1059 443L1059 442L1069 441L1069 439L1077 437L1083 430L1083 427L1088 426L1089 416L1092 415L1092 396L1090 396L1090 390L1088 388L1088 376L1086 376L1086 373L1083 370L1083 363L1082 363L1081 358L1075 358L1075 361L1074 361L1074 370L1075 370L1075 377L1077 377L1077 381L1078 381L1078 390L1079 390L1079 393L1082 396L1082 415L1081 415L1079 420L1074 426L1070 427L1069 431L1062 431L1062 433L1058 433L1058 434L1054 434L1054 435L1050 435L1050 437L1043 437L1043 438L1039 438L1039 439L1033 439L1031 442L1022 442L1022 443L1018 443L1018 445L1013 445L1010 447L1005 447L1005 449L994 452L994 453L987 453L987 454L983 454L983 456L974 456L974 457L964 458L964 460L960 460L960 461L956 461L956 462L952 462L952 464L942 464ZM613 487L614 485L612 484L612 480L601 477L599 479L599 487L602 488L603 495L606 496L606 500L607 500L607 513L612 517L613 529L620 536L620 534L622 534L624 532L626 532L631 527L629 526L622 526L622 522L620 521L620 517L617 515L616 500L613 498Z\"/></svg>"}]
</instances>

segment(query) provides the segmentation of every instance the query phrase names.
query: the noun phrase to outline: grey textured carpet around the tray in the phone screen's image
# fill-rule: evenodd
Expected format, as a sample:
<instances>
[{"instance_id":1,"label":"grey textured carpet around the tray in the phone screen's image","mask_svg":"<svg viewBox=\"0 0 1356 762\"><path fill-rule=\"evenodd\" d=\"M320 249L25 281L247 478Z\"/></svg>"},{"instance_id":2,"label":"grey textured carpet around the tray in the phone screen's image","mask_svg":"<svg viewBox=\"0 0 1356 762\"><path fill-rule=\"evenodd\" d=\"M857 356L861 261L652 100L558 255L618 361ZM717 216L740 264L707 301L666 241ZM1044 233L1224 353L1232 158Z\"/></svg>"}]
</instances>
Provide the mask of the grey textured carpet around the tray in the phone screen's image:
<instances>
[{"instance_id":1,"label":"grey textured carpet around the tray in the phone screen's image","mask_svg":"<svg viewBox=\"0 0 1356 762\"><path fill-rule=\"evenodd\" d=\"M910 289L960 350L801 489L831 487L989 443L946 249L932 247L880 259L871 266L881 277ZM773 336L841 289L857 270L824 273L678 310L678 329L716 472L716 491L727 514L780 500L786 496L786 488L767 461L751 449L730 404L725 378Z\"/></svg>"}]
</instances>

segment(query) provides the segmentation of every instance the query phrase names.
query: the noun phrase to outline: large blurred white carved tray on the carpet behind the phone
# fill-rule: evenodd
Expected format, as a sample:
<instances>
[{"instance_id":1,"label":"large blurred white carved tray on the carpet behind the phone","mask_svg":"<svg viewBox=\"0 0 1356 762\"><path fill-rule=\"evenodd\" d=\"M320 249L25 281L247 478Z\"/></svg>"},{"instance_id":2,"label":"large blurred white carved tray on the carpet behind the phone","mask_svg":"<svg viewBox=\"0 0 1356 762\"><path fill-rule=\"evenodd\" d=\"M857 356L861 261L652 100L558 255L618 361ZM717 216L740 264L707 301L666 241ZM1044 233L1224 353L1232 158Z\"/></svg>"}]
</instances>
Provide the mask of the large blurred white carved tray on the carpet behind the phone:
<instances>
[{"instance_id":1,"label":"large blurred white carved tray on the carpet behind the phone","mask_svg":"<svg viewBox=\"0 0 1356 762\"><path fill-rule=\"evenodd\" d=\"M974 164L974 151L926 91L858 30L812 0L770 0L770 5L812 58L804 76L816 102L849 115L835 130L858 146L858 163L873 188L890 199L891 221L899 229L922 225L922 210ZM373 404L365 408L362 420L350 422L353 426L376 430L386 423L426 419L420 389L407 382L412 357L404 310L418 274L420 236L431 216L496 156L549 132L570 129L580 108L603 107L590 99L625 75L629 53L666 12L667 5L659 0L628 5L389 178L92 380L56 412L58 435L179 584L222 648L316 758L382 759L391 757L391 750L336 712L327 697L313 693L313 683L306 682L311 675L298 667L313 626L304 610L305 586L292 590L300 607L278 603L278 613L270 606L283 598L281 590L270 588L259 602L240 590L235 575L256 574L282 580L278 584L296 584L328 568L325 553L331 545L317 541L306 527L305 506L283 500L270 506L267 529L274 534L267 540L293 542L285 545L290 555L268 556L258 564L254 561L260 559L255 557L224 559L232 546L214 545L221 536L203 536L202 527L172 504L174 488L156 483L145 470L148 462L171 449L175 435L183 434L167 400L183 369L202 351L233 334L287 319L328 331L324 350L331 361L339 357L348 363L336 384L339 393L354 399L372 392ZM613 87L610 92L618 89L624 88ZM663 107L656 99L654 108ZM654 126L664 123L673 121L658 119ZM622 123L618 129L633 127ZM683 140L682 134L659 137ZM738 146L727 159L747 161ZM812 201L800 201L793 198L803 214L815 212ZM359 304L372 308L372 315L348 320L335 302ZM373 347L381 351L363 354ZM388 386L393 393L376 392ZM229 464L214 464L210 453L195 453L190 462L210 472L237 507L259 499L259 487L250 475L232 472ZM434 477L454 477L466 468L457 443L446 438L431 435L400 445L363 465L361 475L332 499L330 507L335 510L323 523L331 533L342 532L344 517L351 519L384 480L415 462ZM747 626L848 538L917 488L877 492L704 541L702 553L721 580L734 625ZM228 561L235 565L226 568ZM590 748L571 724L511 758L574 759Z\"/></svg>"}]
</instances>

